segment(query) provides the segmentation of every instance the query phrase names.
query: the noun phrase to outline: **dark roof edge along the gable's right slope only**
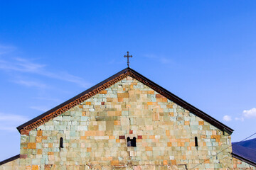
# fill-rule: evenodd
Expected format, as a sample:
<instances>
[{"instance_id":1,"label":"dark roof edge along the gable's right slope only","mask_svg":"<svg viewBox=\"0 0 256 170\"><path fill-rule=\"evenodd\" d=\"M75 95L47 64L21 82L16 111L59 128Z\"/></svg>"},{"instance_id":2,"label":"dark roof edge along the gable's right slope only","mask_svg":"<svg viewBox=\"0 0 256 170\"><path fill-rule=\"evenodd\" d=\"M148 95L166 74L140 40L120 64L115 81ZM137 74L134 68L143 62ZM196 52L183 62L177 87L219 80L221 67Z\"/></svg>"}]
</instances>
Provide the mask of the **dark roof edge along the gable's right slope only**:
<instances>
[{"instance_id":1,"label":"dark roof edge along the gable's right slope only","mask_svg":"<svg viewBox=\"0 0 256 170\"><path fill-rule=\"evenodd\" d=\"M217 128L220 128L221 130L228 132L228 134L230 134L230 135L234 131L233 129L229 128L227 125L220 123L220 121L218 121L215 118L211 117L210 115L204 113L203 111L199 110L195 106L192 106L190 103L183 101L183 99L179 98L175 94L172 94L170 91L164 89L163 87L159 86L158 84L154 83L153 81L147 79L142 74L139 74L138 72L134 71L133 69L130 69L130 70L132 70L132 72L134 74L137 74L137 76L142 77L142 79L144 79L144 80L148 81L150 84L153 84L154 86L156 86L158 89L161 89L161 91L164 91L166 94L169 94L171 97L175 98L176 103L178 103L178 105L181 105L182 107L186 108L188 111L191 111L192 113L198 115L201 118L203 117L203 120L208 120L210 123L213 123L213 125L215 125ZM201 116L201 115L203 115L203 116Z\"/></svg>"}]
</instances>

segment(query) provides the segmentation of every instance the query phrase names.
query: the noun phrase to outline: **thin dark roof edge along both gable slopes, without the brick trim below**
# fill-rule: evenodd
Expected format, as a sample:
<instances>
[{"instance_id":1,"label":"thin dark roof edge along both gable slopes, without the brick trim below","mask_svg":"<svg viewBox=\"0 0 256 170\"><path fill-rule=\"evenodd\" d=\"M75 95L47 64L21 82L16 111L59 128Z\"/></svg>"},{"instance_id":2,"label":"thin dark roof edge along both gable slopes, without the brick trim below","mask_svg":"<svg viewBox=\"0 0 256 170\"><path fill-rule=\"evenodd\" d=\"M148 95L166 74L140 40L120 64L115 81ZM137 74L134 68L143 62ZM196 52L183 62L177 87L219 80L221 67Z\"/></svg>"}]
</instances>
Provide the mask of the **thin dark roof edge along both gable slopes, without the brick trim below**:
<instances>
[{"instance_id":1,"label":"thin dark roof edge along both gable slopes, without the brick trim below","mask_svg":"<svg viewBox=\"0 0 256 170\"><path fill-rule=\"evenodd\" d=\"M144 81L147 81L149 84L152 84L153 86L156 86L157 89L160 89L161 91L164 91L164 93L166 93L169 96L171 96L171 100L174 100L175 103L177 103L178 105L180 105L183 108L186 108L188 111L191 111L191 113L194 113L195 115L198 115L198 117L202 118L203 120L208 121L208 123L211 123L216 128L220 128L220 130L228 132L228 134L230 134L230 135L234 131L233 129L229 128L228 126L224 125L223 123L220 123L218 120L215 120L215 118L212 118L210 115L204 113L203 111L201 111L198 108L192 106L191 104L187 103L186 101L183 101L178 96L172 94L170 91L167 91L163 87L161 87L158 84L154 83L153 81L147 79L142 74L139 74L134 69L131 69L129 67L127 67L126 69L123 69L122 71L118 72L117 74L114 74L112 77L109 77L109 78L105 79L104 81L101 81L99 84L96 84L95 86L92 86L90 89L87 89L86 91L83 91L82 93L78 94L77 96L75 96L73 98L70 98L68 101L65 101L64 103L61 103L60 105L56 106L55 108L50 109L46 113L38 115L36 118L33 118L32 120L29 120L26 123L23 123L22 125L17 127L18 131L20 132L20 130L22 128L26 127L27 125L30 125L31 123L36 122L37 120L45 117L46 115L52 113L53 111L58 110L59 108L67 105L68 103L70 103L72 101L75 101L75 99L80 98L81 96L89 93L93 89L96 89L97 87L101 86L102 84L105 84L107 81L110 81L111 79L114 79L115 77L118 77L120 74L124 74L126 72L132 72L133 74L137 75L138 77L140 77Z\"/></svg>"}]
</instances>

